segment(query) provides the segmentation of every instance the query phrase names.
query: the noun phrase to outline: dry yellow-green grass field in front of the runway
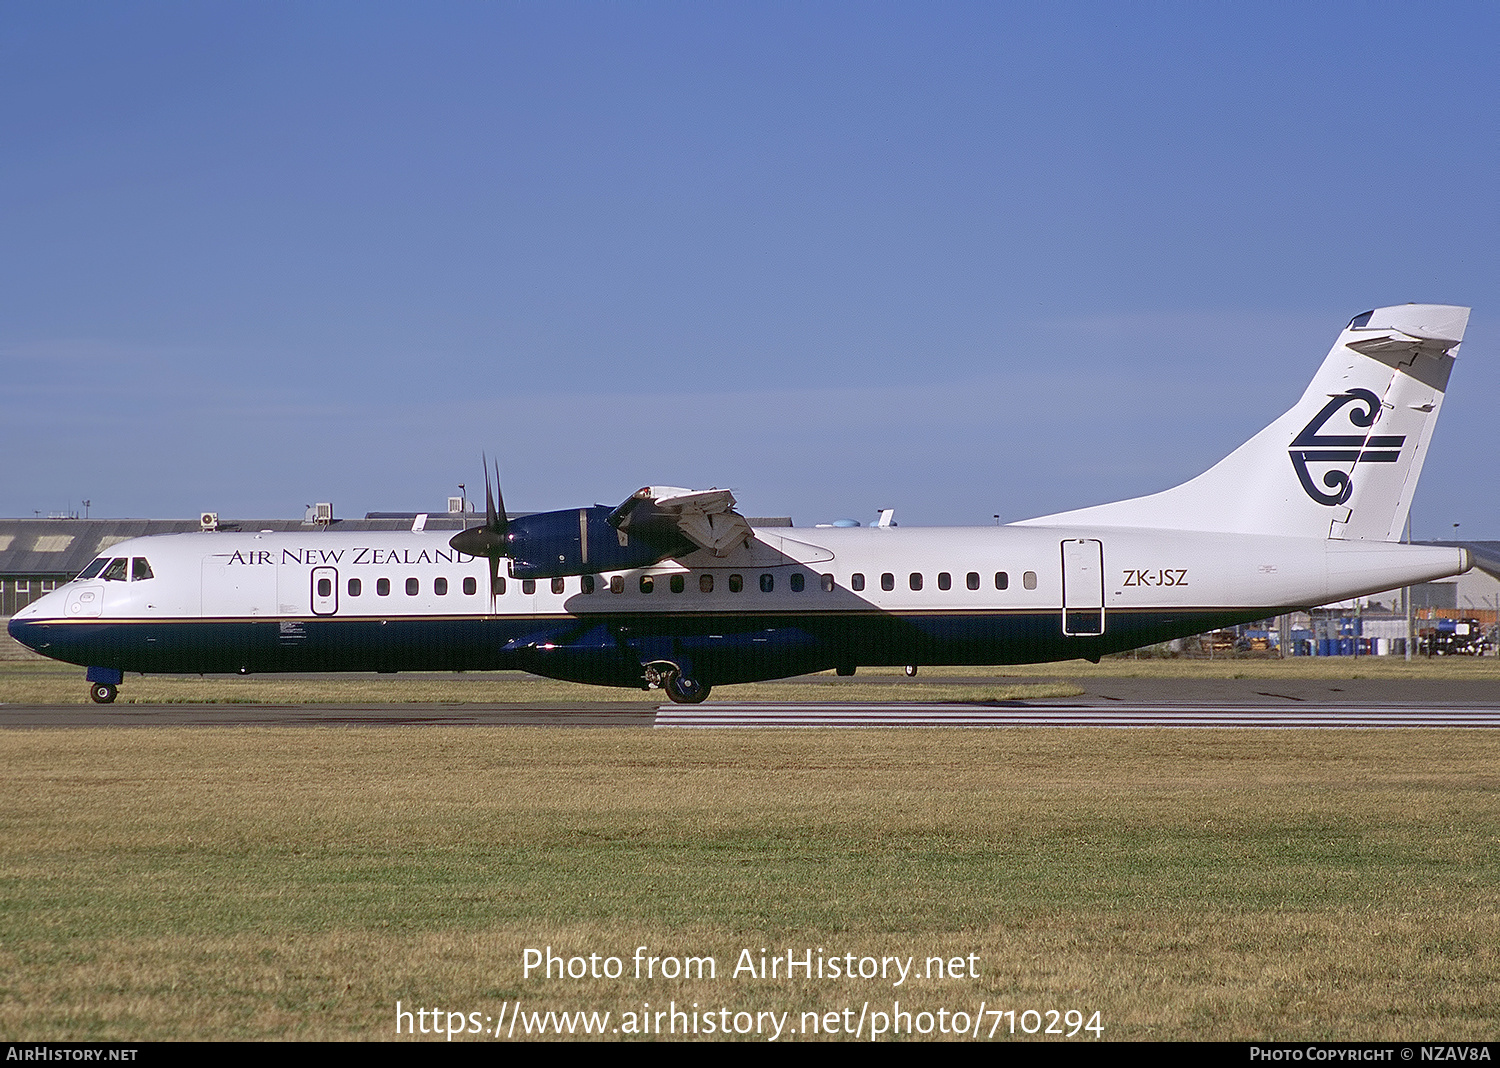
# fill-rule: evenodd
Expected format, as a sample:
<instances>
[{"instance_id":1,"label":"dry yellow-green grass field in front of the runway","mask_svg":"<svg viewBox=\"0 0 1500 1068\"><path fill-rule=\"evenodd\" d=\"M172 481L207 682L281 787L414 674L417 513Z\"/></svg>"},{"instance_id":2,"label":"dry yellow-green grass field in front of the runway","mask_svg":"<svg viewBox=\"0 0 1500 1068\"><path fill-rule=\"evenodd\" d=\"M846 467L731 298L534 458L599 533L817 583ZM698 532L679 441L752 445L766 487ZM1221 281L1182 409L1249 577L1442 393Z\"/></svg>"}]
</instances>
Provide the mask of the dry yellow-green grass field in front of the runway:
<instances>
[{"instance_id":1,"label":"dry yellow-green grass field in front of the runway","mask_svg":"<svg viewBox=\"0 0 1500 1068\"><path fill-rule=\"evenodd\" d=\"M1106 1038L1490 1038L1490 732L3 732L0 1035L988 1005ZM716 981L524 980L525 946ZM728 976L741 948L981 978Z\"/></svg>"}]
</instances>

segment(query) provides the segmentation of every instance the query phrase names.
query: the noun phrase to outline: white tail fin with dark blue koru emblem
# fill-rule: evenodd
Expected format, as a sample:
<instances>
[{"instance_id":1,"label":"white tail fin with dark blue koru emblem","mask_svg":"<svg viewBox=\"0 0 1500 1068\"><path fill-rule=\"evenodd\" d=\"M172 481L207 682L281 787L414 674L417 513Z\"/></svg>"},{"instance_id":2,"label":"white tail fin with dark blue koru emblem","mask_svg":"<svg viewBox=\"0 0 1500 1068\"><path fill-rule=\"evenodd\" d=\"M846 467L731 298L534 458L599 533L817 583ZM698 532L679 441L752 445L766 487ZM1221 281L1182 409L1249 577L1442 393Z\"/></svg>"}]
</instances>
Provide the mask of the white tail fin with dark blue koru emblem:
<instances>
[{"instance_id":1,"label":"white tail fin with dark blue koru emblem","mask_svg":"<svg viewBox=\"0 0 1500 1068\"><path fill-rule=\"evenodd\" d=\"M1356 315L1302 399L1197 478L1018 525L1400 540L1467 324L1450 304Z\"/></svg>"}]
</instances>

